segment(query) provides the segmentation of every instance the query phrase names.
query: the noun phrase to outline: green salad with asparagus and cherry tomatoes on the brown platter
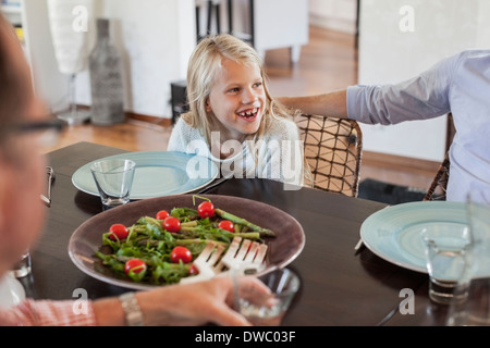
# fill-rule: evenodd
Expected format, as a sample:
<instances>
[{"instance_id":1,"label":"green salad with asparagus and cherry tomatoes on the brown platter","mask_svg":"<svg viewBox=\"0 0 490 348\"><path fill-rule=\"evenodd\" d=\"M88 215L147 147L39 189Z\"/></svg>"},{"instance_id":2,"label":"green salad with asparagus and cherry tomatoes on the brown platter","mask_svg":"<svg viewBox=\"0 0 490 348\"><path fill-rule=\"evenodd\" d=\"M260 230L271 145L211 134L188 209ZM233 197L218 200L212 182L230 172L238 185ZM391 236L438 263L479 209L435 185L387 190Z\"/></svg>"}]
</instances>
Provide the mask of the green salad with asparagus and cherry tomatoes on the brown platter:
<instances>
[{"instance_id":1,"label":"green salad with asparagus and cherry tomatoes on the brown platter","mask_svg":"<svg viewBox=\"0 0 490 348\"><path fill-rule=\"evenodd\" d=\"M96 270L145 284L174 284L198 274L193 261L208 241L228 249L235 236L264 243L274 233L215 208L210 200L197 209L161 210L155 216L139 217L132 226L111 225L96 252L100 259Z\"/></svg>"}]
</instances>

